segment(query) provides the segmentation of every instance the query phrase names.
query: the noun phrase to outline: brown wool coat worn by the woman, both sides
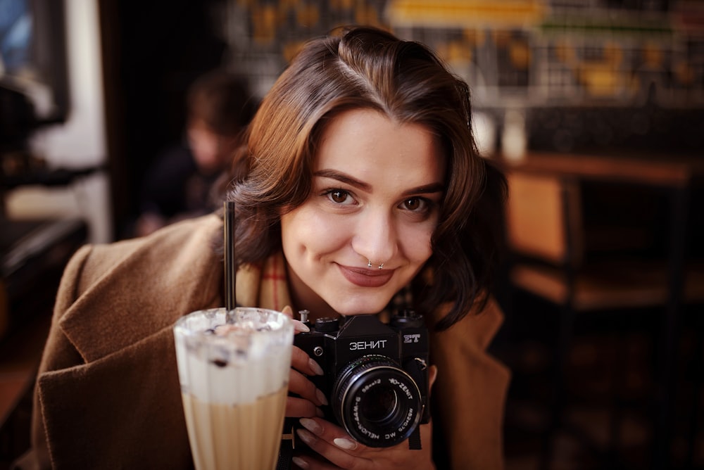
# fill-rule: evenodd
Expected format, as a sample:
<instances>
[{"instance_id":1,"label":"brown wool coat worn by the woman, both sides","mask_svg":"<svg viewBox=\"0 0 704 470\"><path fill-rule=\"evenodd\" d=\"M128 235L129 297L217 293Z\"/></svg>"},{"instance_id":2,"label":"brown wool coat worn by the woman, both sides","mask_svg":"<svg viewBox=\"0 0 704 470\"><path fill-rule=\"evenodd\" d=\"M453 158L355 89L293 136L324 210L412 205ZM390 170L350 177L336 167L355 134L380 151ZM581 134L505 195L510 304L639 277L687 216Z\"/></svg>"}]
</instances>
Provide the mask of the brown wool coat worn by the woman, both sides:
<instances>
[{"instance_id":1,"label":"brown wool coat worn by the woman, both sides","mask_svg":"<svg viewBox=\"0 0 704 470\"><path fill-rule=\"evenodd\" d=\"M144 239L84 246L65 269L20 469L192 468L172 325L222 305L215 215ZM241 279L238 277L238 299ZM251 291L259 286L253 277ZM245 286L247 287L247 286ZM501 469L509 374L485 349L495 305L431 338L434 399L455 469Z\"/></svg>"}]
</instances>

